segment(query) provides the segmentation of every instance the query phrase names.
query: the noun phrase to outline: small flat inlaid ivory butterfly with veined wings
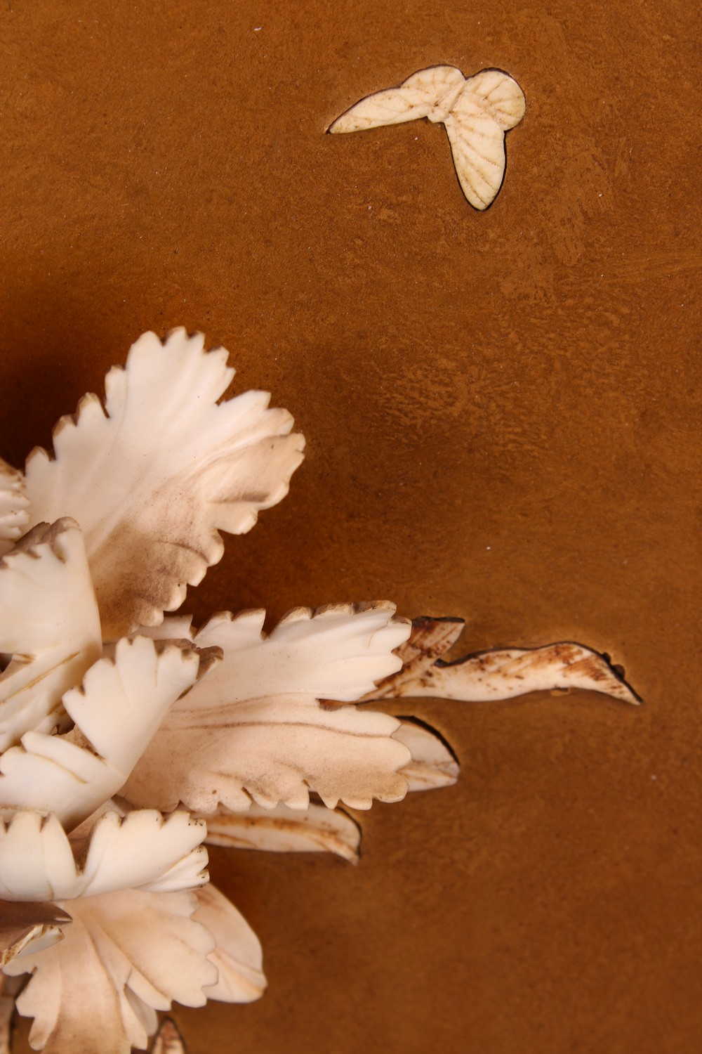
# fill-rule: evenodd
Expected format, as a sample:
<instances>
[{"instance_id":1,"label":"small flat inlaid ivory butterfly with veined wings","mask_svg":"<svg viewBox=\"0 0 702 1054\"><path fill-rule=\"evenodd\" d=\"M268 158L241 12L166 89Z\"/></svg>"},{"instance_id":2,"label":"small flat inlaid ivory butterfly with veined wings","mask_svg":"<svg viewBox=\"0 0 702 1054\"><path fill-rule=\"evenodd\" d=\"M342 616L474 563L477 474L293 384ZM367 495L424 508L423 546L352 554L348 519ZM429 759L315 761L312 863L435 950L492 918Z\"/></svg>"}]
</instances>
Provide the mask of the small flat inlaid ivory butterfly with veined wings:
<instances>
[{"instance_id":1,"label":"small flat inlaid ivory butterfly with veined wings","mask_svg":"<svg viewBox=\"0 0 702 1054\"><path fill-rule=\"evenodd\" d=\"M504 136L521 121L524 93L501 70L463 76L456 66L429 66L399 87L361 99L329 132L360 132L427 117L448 134L461 190L474 209L487 209L504 179Z\"/></svg>"}]
</instances>

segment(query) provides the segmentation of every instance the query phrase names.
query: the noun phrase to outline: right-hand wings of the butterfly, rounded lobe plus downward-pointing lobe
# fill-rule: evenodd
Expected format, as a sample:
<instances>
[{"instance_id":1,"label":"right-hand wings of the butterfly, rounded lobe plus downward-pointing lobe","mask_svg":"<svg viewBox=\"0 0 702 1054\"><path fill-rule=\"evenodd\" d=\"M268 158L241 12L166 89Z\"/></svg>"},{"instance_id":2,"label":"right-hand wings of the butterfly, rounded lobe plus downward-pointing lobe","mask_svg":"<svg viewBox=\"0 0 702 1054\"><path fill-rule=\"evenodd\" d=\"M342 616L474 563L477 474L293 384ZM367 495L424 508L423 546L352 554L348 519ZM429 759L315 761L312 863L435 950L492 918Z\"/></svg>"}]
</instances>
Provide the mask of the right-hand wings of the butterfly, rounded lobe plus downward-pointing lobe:
<instances>
[{"instance_id":1,"label":"right-hand wings of the butterfly, rounded lobe plus downward-pointing lobe","mask_svg":"<svg viewBox=\"0 0 702 1054\"><path fill-rule=\"evenodd\" d=\"M482 70L465 82L444 119L461 190L474 209L487 209L504 179L505 132L519 124L524 94L501 70Z\"/></svg>"}]
</instances>

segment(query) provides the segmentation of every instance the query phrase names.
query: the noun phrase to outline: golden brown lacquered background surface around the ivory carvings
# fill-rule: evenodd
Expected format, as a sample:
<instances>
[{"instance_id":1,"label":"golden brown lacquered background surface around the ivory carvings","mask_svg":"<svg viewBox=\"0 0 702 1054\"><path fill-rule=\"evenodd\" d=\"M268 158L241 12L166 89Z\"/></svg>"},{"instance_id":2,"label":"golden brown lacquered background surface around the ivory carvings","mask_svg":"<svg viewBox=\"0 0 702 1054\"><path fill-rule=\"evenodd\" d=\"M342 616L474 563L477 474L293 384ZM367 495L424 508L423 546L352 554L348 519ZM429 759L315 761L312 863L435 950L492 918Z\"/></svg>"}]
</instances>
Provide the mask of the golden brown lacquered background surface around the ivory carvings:
<instances>
[{"instance_id":1,"label":"golden brown lacquered background surface around the ivory carvings","mask_svg":"<svg viewBox=\"0 0 702 1054\"><path fill-rule=\"evenodd\" d=\"M269 990L179 1010L190 1054L702 1049L696 7L4 0L5 457L204 330L308 451L199 618L387 597L646 701L404 703L458 786L376 804L358 868L214 852ZM439 125L324 135L439 62L526 95L484 214Z\"/></svg>"}]
</instances>

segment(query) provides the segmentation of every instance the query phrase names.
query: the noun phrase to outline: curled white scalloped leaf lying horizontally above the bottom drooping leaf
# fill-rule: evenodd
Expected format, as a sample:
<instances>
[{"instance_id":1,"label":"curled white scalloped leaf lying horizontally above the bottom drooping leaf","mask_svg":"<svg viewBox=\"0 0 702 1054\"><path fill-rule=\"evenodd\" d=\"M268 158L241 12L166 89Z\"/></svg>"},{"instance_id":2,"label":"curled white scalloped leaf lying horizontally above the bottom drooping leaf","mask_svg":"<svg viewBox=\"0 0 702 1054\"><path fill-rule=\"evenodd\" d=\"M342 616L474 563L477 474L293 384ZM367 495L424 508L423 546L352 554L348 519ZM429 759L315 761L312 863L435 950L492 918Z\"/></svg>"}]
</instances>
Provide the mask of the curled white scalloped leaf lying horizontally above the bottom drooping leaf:
<instances>
[{"instance_id":1,"label":"curled white scalloped leaf lying horizontally above the bottom drooping leaf","mask_svg":"<svg viewBox=\"0 0 702 1054\"><path fill-rule=\"evenodd\" d=\"M55 815L18 813L9 823L0 821L0 898L73 900L123 889L193 889L207 881L207 852L200 846L206 834L204 822L188 813L105 812L72 842Z\"/></svg>"}]
</instances>

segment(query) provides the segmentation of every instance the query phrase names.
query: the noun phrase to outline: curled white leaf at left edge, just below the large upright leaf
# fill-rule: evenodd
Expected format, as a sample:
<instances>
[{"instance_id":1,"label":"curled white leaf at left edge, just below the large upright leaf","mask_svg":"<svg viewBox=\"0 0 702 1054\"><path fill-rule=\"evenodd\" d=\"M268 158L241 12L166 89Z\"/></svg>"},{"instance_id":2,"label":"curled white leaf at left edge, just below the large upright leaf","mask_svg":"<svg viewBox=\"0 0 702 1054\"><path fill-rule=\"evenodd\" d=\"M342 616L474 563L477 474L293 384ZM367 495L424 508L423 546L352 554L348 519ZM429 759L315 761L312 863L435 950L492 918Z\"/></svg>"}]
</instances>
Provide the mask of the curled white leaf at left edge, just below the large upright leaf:
<instances>
[{"instance_id":1,"label":"curled white leaf at left edge, just below the large upright leaf","mask_svg":"<svg viewBox=\"0 0 702 1054\"><path fill-rule=\"evenodd\" d=\"M61 697L102 650L83 540L73 520L38 524L0 559L0 750L65 718Z\"/></svg>"}]
</instances>

